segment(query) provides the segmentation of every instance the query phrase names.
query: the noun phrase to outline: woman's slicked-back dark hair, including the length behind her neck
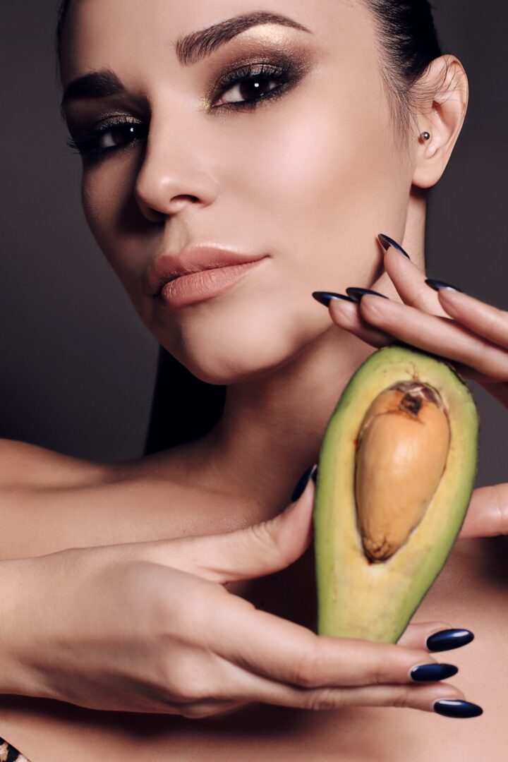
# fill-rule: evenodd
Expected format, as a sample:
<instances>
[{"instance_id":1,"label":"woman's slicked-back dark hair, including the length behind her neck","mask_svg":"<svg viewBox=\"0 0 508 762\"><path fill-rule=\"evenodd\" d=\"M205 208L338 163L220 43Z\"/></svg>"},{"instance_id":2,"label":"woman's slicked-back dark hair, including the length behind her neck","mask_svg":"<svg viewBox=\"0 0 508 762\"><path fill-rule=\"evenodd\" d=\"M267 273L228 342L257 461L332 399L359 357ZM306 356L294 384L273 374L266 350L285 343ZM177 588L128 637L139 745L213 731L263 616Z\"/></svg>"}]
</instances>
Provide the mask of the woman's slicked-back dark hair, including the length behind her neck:
<instances>
[{"instance_id":1,"label":"woman's slicked-back dark hair, including the length behind her neck","mask_svg":"<svg viewBox=\"0 0 508 762\"><path fill-rule=\"evenodd\" d=\"M60 0L56 27L58 60L72 0ZM443 55L429 0L359 0L372 12L379 38L383 80L401 136L408 136L423 91L417 80ZM177 400L177 405L174 400ZM184 402L182 402L184 400ZM185 400L188 401L186 404ZM225 386L196 379L161 348L146 453L203 436L222 416Z\"/></svg>"}]
</instances>

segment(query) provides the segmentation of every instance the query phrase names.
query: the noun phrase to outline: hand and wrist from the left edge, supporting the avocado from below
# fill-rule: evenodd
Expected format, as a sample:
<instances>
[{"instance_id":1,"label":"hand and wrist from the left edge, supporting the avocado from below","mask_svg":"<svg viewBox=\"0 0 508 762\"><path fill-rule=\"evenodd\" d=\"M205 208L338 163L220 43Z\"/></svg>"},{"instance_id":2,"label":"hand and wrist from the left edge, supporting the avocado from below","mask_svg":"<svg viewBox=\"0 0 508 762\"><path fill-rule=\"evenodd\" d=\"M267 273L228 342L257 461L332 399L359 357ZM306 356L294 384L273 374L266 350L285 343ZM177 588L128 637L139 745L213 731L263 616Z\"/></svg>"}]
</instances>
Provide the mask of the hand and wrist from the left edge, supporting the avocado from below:
<instances>
[{"instance_id":1,"label":"hand and wrist from the left edge, supporting the avocado from below","mask_svg":"<svg viewBox=\"0 0 508 762\"><path fill-rule=\"evenodd\" d=\"M232 533L2 562L2 692L188 718L251 701L430 712L463 699L410 676L436 663L425 643L449 623L411 624L397 645L316 636L225 589L302 555L314 489L310 479L286 511Z\"/></svg>"}]
</instances>

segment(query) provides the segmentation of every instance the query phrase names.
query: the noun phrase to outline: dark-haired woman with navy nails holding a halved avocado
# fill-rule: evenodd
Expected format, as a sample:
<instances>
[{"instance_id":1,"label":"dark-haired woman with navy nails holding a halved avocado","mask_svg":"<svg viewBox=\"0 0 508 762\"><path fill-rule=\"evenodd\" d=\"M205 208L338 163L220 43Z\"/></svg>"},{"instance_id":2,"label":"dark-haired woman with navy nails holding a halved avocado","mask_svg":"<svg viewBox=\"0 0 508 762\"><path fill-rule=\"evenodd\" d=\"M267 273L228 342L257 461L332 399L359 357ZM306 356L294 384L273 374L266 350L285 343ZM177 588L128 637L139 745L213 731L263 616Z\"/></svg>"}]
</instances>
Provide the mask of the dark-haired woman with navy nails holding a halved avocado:
<instances>
[{"instance_id":1,"label":"dark-haired woman with navy nails holding a halved avocado","mask_svg":"<svg viewBox=\"0 0 508 762\"><path fill-rule=\"evenodd\" d=\"M309 632L313 559L304 553L310 469L292 510L280 514L296 476L317 461L337 395L372 345L395 337L437 351L503 401L506 316L443 284L432 290L423 275L425 189L439 180L462 127L467 80L455 56L440 55L426 2L382 26L386 11L399 5L285 0L258 5L257 14L246 0L65 5L63 107L83 156L88 223L158 341L197 378L225 383L228 393L209 434L139 461L100 465L7 448L12 518L3 557L14 559L4 567L14 613L15 580L30 556L45 559L30 590L37 623L48 578L59 591L53 680L41 675L34 687L39 655L24 650L24 628L8 627L7 655L23 656L18 673L11 667L10 692L47 697L7 696L1 704L2 735L31 762L79 762L91 753L112 760L133 753L145 760L501 758L497 712L506 699L497 681L504 665L489 683L484 664L502 646L493 626L502 631L506 616L503 591L482 566L484 544L465 539L475 533L474 504L464 541L421 604L419 623L396 646L316 645ZM380 230L412 261L389 238L380 246ZM232 256L237 266L218 272ZM216 270L207 276L169 280L211 265ZM327 296L327 283L360 289L349 290L350 299ZM372 286L391 299L365 294ZM494 497L478 491L475 501L488 511ZM20 527L29 519L27 533ZM494 521L491 527L495 533ZM240 533L177 539L228 530ZM163 541L148 542L154 539ZM118 543L136 544L126 555ZM65 550L76 546L97 547ZM85 582L72 594L95 597L96 607L88 622L75 623L73 639L65 582L74 573ZM469 586L466 602L453 595L458 579ZM227 583L237 597L227 596ZM101 704L104 641L97 631L110 612L114 626L121 615L124 624L132 619L136 584L143 594L164 587L165 599L149 597L146 618L133 621L137 640L129 641L126 627L112 634L116 706L110 697ZM174 596L178 616L168 620ZM462 690L436 682L434 668L430 682L423 670L427 684L418 680L422 671L420 684L411 675L417 664L436 663L427 638L455 617L474 621L477 639L454 661L468 695L488 705L481 717L474 703L462 703ZM257 637L260 618L267 639ZM193 642L189 632L198 634ZM133 677L138 692L143 684L144 703L119 679L115 650L125 655L130 646L136 661L142 635L159 651L164 640L174 647L151 673ZM94 673L91 659L90 709L48 700L72 702L62 673L83 642L97 648L101 667ZM286 661L277 671L281 654ZM246 698L258 703L238 708ZM459 732L435 709L474 719ZM141 713L123 713L129 710Z\"/></svg>"}]
</instances>

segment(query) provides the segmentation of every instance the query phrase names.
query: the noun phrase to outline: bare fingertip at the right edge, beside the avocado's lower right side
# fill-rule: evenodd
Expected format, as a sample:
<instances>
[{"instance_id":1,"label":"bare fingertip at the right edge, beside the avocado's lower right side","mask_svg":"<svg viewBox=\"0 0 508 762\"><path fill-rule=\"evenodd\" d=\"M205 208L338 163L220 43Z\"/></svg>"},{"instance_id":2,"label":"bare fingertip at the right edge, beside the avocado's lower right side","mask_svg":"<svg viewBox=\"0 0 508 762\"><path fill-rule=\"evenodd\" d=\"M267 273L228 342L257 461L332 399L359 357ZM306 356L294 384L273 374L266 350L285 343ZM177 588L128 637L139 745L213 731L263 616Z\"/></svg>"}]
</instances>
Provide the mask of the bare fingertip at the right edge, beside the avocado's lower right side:
<instances>
[{"instance_id":1,"label":"bare fingertip at the right edge, beside the avocado's lower right side","mask_svg":"<svg viewBox=\"0 0 508 762\"><path fill-rule=\"evenodd\" d=\"M475 489L457 539L507 534L508 484Z\"/></svg>"}]
</instances>

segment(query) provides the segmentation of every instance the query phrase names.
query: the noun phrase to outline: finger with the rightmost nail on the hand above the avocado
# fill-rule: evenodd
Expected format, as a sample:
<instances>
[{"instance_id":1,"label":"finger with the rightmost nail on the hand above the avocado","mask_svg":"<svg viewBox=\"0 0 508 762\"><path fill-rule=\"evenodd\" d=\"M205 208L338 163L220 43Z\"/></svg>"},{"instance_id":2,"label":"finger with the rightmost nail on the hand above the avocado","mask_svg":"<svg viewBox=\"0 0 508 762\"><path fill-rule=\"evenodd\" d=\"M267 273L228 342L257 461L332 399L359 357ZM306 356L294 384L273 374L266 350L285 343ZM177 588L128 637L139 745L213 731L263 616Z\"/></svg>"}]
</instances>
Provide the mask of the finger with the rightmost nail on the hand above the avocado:
<instances>
[{"instance_id":1,"label":"finger with the rightmost nail on the hand above the avocado","mask_svg":"<svg viewBox=\"0 0 508 762\"><path fill-rule=\"evenodd\" d=\"M508 312L452 288L441 288L437 295L455 321L493 344L508 348Z\"/></svg>"}]
</instances>

